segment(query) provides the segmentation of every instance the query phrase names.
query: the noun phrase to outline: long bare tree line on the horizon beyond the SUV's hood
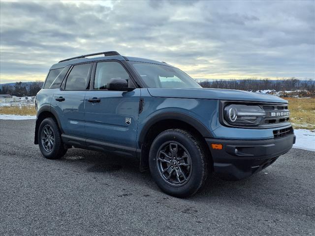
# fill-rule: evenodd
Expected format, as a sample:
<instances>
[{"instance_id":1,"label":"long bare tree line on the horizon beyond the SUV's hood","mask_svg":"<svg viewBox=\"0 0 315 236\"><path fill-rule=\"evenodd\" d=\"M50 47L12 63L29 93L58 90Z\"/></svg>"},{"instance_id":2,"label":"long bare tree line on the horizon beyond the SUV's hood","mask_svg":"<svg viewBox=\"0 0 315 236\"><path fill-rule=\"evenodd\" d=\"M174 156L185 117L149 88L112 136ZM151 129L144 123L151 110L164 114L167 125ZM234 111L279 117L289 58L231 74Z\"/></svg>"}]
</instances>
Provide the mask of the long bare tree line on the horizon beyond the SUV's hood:
<instances>
[{"instance_id":1,"label":"long bare tree line on the horizon beyond the SUV's hood","mask_svg":"<svg viewBox=\"0 0 315 236\"><path fill-rule=\"evenodd\" d=\"M267 90L274 89L276 91L293 91L297 89L305 89L308 91L315 90L314 80L299 80L295 78L284 80L214 80L214 81L202 81L199 82L203 88L215 88L215 89L238 89L238 90Z\"/></svg>"}]
</instances>

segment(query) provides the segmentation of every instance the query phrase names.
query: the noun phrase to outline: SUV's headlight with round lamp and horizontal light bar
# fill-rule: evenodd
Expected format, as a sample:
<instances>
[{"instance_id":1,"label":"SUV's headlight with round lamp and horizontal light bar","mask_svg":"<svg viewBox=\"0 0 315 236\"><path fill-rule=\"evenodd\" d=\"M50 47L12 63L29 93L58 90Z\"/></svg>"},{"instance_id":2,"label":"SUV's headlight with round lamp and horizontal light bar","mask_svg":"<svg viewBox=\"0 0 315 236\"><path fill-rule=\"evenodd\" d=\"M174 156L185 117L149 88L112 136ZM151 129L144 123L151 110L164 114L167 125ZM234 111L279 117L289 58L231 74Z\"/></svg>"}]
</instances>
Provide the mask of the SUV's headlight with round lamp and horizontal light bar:
<instances>
[{"instance_id":1,"label":"SUV's headlight with round lamp and horizontal light bar","mask_svg":"<svg viewBox=\"0 0 315 236\"><path fill-rule=\"evenodd\" d=\"M265 117L259 106L232 104L224 108L224 119L235 126L257 126Z\"/></svg>"}]
</instances>

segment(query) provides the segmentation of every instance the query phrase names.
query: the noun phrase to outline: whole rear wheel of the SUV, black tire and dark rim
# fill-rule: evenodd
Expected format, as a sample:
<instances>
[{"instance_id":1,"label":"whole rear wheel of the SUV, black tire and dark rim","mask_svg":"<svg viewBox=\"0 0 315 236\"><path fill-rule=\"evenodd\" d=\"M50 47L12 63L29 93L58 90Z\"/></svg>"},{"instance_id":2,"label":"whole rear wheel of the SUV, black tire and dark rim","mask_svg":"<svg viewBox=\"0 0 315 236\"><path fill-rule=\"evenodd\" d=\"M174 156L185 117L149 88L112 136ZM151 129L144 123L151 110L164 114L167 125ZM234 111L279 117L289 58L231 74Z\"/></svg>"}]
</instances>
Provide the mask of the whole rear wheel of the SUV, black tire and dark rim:
<instances>
[{"instance_id":1,"label":"whole rear wheel of the SUV, black tire and dark rim","mask_svg":"<svg viewBox=\"0 0 315 236\"><path fill-rule=\"evenodd\" d=\"M45 118L40 123L38 146L43 156L48 159L59 159L66 153L67 149L63 146L61 132L55 119Z\"/></svg>"}]
</instances>

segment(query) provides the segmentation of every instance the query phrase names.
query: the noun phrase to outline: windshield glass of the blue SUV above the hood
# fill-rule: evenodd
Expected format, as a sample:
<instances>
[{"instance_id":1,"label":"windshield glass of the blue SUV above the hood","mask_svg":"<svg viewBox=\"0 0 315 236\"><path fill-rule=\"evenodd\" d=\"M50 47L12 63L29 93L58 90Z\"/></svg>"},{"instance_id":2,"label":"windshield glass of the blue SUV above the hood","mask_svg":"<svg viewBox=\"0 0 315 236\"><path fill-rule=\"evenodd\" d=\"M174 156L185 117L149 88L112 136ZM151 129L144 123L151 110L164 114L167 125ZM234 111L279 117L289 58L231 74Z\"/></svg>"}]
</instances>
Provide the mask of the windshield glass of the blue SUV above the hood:
<instances>
[{"instance_id":1,"label":"windshield glass of the blue SUV above the hood","mask_svg":"<svg viewBox=\"0 0 315 236\"><path fill-rule=\"evenodd\" d=\"M190 89L201 88L189 75L180 69L146 62L131 62L148 88Z\"/></svg>"}]
</instances>

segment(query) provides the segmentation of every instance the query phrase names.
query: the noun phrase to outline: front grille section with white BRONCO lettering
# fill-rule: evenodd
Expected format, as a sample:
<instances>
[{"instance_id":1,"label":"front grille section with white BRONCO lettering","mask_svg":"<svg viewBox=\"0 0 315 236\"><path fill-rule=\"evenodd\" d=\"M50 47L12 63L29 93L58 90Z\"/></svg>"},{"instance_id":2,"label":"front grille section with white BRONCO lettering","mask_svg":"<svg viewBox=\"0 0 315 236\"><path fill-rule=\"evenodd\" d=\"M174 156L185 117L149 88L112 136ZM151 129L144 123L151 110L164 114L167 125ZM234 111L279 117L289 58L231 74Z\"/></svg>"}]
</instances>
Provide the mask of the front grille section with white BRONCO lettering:
<instances>
[{"instance_id":1,"label":"front grille section with white BRONCO lettering","mask_svg":"<svg viewBox=\"0 0 315 236\"><path fill-rule=\"evenodd\" d=\"M264 105L262 109L266 112L265 124L289 121L290 111L287 109L287 105Z\"/></svg>"}]
</instances>

